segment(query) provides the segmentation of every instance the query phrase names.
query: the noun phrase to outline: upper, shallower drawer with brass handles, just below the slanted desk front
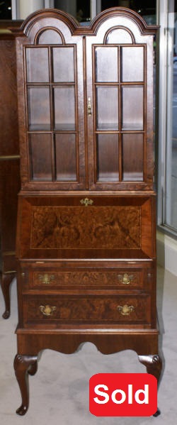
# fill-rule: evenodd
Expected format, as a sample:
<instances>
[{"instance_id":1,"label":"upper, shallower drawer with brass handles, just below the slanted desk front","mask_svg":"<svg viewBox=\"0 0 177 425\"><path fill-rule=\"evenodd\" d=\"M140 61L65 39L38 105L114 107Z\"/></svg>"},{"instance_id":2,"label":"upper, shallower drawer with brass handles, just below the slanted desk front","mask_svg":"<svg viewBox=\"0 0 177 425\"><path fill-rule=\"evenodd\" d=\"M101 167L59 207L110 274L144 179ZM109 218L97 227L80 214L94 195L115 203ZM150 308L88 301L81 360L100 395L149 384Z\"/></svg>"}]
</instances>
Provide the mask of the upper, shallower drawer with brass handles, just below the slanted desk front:
<instances>
[{"instance_id":1,"label":"upper, shallower drawer with brass handles, just below the slanted desk front","mask_svg":"<svg viewBox=\"0 0 177 425\"><path fill-rule=\"evenodd\" d=\"M106 270L56 270L53 267L23 270L23 289L150 289L153 270L147 267L119 267Z\"/></svg>"}]
</instances>

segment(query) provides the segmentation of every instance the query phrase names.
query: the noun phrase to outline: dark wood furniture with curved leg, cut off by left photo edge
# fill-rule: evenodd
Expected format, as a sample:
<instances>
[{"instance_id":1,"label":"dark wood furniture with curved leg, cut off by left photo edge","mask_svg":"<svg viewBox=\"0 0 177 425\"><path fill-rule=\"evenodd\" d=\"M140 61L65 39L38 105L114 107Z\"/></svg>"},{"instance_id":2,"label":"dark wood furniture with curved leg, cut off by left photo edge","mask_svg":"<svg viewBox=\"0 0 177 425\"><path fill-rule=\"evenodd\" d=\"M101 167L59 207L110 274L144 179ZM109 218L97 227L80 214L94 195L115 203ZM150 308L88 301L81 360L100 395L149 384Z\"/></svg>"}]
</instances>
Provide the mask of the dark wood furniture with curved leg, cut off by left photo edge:
<instances>
[{"instance_id":1,"label":"dark wood furniture with curved leg, cut off by left photo edge","mask_svg":"<svg viewBox=\"0 0 177 425\"><path fill-rule=\"evenodd\" d=\"M11 33L0 33L0 238L4 319L10 315L9 289L16 273L17 194L20 189L16 48Z\"/></svg>"}]
</instances>

